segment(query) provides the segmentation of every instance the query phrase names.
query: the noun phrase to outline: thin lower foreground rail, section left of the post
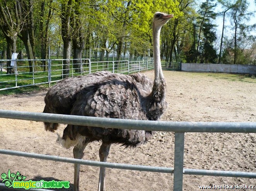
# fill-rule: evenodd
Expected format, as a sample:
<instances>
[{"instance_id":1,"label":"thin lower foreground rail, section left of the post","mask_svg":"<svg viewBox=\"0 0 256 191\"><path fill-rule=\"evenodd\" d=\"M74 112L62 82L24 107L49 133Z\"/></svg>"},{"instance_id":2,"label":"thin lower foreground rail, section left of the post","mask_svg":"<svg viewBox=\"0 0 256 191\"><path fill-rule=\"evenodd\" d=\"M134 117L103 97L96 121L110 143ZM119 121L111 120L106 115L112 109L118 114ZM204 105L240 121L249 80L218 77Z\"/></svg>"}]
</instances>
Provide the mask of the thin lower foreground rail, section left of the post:
<instances>
[{"instance_id":1,"label":"thin lower foreground rail, section left of the post","mask_svg":"<svg viewBox=\"0 0 256 191\"><path fill-rule=\"evenodd\" d=\"M142 165L133 165L133 164L120 164L120 163L105 163L105 162L99 162L99 161L88 161L88 160L73 159L73 158L60 157L60 156L50 156L45 154L10 151L5 149L0 149L0 154L23 156L23 157L43 159L43 160L49 160L49 161L59 161L64 163L77 163L77 164L84 164L88 166L100 166L100 167L106 167L106 168L126 169L126 170L135 170L135 171L149 171L149 172L155 172L155 173L173 173L173 168L157 167L157 166L142 166Z\"/></svg>"}]
</instances>

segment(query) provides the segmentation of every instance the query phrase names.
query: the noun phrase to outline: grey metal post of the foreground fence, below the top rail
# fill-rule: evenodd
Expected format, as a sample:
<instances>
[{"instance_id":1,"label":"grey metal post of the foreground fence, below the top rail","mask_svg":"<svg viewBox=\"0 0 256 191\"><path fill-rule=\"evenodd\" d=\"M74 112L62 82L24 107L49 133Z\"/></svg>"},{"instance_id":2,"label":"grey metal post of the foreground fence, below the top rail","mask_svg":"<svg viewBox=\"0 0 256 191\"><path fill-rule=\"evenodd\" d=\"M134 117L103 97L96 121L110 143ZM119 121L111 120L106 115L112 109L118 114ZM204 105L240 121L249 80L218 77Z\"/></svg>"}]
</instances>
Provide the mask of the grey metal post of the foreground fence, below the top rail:
<instances>
[{"instance_id":1,"label":"grey metal post of the foreground fence, below the top rail","mask_svg":"<svg viewBox=\"0 0 256 191\"><path fill-rule=\"evenodd\" d=\"M184 132L175 132L173 190L182 191L184 159Z\"/></svg>"}]
</instances>

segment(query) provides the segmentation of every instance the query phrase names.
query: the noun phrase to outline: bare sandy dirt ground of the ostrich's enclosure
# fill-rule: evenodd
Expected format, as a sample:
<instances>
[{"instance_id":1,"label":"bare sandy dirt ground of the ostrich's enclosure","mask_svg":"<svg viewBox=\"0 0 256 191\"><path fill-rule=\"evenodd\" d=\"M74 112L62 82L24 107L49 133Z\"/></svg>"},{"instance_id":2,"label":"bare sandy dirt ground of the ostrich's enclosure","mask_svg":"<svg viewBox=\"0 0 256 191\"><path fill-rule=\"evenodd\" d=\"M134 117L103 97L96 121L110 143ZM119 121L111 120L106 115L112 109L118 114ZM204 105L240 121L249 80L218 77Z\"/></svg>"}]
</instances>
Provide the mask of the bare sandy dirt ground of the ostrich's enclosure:
<instances>
[{"instance_id":1,"label":"bare sandy dirt ground of the ostrich's enclosure","mask_svg":"<svg viewBox=\"0 0 256 191\"><path fill-rule=\"evenodd\" d=\"M153 77L152 71L145 72ZM163 121L256 122L256 79L229 74L164 71L167 102ZM46 91L0 96L0 109L42 112ZM62 134L65 125L58 133ZM42 122L0 118L0 148L39 154L73 157L72 149L58 145L56 134L44 131ZM100 142L85 149L83 159L99 161ZM0 174L19 171L26 180L70 181L73 164L0 154ZM173 167L174 133L158 132L154 139L135 149L111 146L109 162ZM186 133L184 168L256 173L256 134ZM97 190L99 168L81 166L80 190ZM2 181L1 181L2 182ZM199 190L199 185L254 185L256 179L184 175L183 189ZM167 191L173 189L173 175L121 169L106 170L107 191ZM66 190L66 189L62 189ZM217 189L216 189L217 190Z\"/></svg>"}]
</instances>

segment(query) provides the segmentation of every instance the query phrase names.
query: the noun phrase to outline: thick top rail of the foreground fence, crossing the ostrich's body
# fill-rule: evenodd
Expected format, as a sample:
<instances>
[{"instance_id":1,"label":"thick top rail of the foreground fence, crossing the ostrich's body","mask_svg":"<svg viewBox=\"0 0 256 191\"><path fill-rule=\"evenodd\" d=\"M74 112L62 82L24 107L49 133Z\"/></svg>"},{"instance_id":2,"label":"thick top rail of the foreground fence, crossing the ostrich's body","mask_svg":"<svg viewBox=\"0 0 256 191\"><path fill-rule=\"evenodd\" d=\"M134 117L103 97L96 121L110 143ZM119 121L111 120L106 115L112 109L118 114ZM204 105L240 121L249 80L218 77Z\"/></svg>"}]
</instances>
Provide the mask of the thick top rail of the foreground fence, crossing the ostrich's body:
<instances>
[{"instance_id":1,"label":"thick top rail of the foreground fence, crossing the ostrich's body","mask_svg":"<svg viewBox=\"0 0 256 191\"><path fill-rule=\"evenodd\" d=\"M39 112L0 110L0 118L44 121L80 126L169 132L252 132L256 122L170 122L71 116Z\"/></svg>"}]
</instances>

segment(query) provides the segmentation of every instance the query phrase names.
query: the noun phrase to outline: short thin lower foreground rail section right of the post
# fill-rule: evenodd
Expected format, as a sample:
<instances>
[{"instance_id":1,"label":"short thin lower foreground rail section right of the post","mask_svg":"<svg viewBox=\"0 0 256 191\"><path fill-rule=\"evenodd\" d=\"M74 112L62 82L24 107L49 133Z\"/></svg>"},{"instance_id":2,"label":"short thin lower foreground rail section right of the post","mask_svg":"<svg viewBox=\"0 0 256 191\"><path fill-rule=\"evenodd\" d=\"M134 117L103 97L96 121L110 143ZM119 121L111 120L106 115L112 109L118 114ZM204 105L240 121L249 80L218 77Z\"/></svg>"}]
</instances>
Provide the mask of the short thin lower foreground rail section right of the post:
<instances>
[{"instance_id":1,"label":"short thin lower foreground rail section right of the post","mask_svg":"<svg viewBox=\"0 0 256 191\"><path fill-rule=\"evenodd\" d=\"M239 178L256 178L256 173L239 172L239 171L214 171L201 169L183 169L183 174L204 175L204 176L225 176Z\"/></svg>"}]
</instances>

